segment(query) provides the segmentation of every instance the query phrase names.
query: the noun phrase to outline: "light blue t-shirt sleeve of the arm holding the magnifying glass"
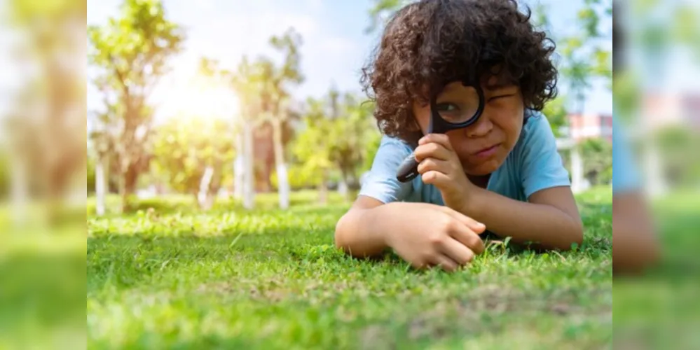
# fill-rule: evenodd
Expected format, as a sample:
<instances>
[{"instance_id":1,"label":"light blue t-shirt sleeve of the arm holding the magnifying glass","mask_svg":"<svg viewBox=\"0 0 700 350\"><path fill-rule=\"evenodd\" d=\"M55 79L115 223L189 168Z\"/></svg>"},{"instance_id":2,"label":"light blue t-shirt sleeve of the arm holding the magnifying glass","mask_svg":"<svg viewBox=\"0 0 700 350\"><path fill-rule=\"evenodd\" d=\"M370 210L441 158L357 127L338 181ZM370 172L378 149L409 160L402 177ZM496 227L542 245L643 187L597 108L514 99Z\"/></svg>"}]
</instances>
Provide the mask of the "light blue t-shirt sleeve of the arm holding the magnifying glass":
<instances>
[{"instance_id":1,"label":"light blue t-shirt sleeve of the arm holding the magnifying glass","mask_svg":"<svg viewBox=\"0 0 700 350\"><path fill-rule=\"evenodd\" d=\"M533 113L523 127L521 145L521 180L526 198L537 191L571 186L569 172L556 149L556 138L549 120Z\"/></svg>"}]
</instances>

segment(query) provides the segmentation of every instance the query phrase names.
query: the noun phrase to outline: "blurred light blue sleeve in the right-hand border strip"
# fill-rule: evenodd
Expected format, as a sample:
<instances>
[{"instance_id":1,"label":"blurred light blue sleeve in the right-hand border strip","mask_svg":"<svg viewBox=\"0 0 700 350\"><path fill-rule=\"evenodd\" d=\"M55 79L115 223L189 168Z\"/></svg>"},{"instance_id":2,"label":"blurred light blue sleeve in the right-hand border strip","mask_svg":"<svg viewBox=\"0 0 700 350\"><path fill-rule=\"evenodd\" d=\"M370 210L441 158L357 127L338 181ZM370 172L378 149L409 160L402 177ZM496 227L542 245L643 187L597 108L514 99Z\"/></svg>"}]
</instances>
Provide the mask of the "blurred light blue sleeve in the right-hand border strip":
<instances>
[{"instance_id":1,"label":"blurred light blue sleeve in the right-hand border strip","mask_svg":"<svg viewBox=\"0 0 700 350\"><path fill-rule=\"evenodd\" d=\"M612 193L640 189L640 177L622 126L612 120Z\"/></svg>"}]
</instances>

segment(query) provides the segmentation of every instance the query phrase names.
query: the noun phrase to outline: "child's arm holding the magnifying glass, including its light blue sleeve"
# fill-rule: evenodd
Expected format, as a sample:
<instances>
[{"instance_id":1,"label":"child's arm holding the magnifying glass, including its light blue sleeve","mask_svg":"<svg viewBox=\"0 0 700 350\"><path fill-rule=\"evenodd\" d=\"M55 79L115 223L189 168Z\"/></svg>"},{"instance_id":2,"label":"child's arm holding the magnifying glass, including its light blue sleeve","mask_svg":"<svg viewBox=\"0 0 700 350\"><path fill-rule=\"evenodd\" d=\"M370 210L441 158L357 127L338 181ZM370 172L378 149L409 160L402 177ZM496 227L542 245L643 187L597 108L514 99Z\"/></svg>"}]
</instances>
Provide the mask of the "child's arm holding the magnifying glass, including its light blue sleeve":
<instances>
[{"instance_id":1,"label":"child's arm holding the magnifying glass, including its light blue sleeve","mask_svg":"<svg viewBox=\"0 0 700 350\"><path fill-rule=\"evenodd\" d=\"M441 190L443 200L462 214L486 224L495 234L543 248L568 249L581 244L583 228L568 186L568 174L556 153L556 140L544 116L530 120L521 148L521 181L528 202L484 190L465 175L449 138L430 134L420 140L416 159L423 182ZM525 132L523 130L523 132ZM514 151L516 152L516 151Z\"/></svg>"}]
</instances>

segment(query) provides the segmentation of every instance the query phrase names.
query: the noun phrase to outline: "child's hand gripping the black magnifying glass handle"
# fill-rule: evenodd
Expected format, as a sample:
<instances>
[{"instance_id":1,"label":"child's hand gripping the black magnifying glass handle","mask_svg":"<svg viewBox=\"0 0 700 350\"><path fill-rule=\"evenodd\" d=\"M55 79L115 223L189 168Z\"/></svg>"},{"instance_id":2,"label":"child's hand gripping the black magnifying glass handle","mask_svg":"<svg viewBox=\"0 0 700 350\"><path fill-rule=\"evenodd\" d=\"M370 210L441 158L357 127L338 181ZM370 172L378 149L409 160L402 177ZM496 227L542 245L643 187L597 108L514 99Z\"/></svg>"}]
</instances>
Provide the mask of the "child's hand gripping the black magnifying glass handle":
<instances>
[{"instance_id":1,"label":"child's hand gripping the black magnifying glass handle","mask_svg":"<svg viewBox=\"0 0 700 350\"><path fill-rule=\"evenodd\" d=\"M427 134L418 141L414 152L420 162L418 172L423 183L436 186L445 205L462 211L469 200L469 188L474 186L462 169L462 163L446 134Z\"/></svg>"}]
</instances>

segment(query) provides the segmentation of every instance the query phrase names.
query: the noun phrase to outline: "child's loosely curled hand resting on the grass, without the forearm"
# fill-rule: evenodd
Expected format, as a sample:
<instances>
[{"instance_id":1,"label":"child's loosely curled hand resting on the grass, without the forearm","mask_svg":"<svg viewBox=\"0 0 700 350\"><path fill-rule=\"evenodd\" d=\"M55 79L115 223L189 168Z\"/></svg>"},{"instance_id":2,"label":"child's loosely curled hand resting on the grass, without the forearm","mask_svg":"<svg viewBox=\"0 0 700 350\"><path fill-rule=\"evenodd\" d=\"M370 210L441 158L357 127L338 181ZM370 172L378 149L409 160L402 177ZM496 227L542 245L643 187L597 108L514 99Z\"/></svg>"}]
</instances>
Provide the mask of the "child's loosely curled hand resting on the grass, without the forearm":
<instances>
[{"instance_id":1,"label":"child's loosely curled hand resting on the grass, without the forearm","mask_svg":"<svg viewBox=\"0 0 700 350\"><path fill-rule=\"evenodd\" d=\"M382 210L391 228L385 233L387 245L413 267L440 266L453 271L483 253L479 234L486 226L453 209L392 202L382 206Z\"/></svg>"}]
</instances>

